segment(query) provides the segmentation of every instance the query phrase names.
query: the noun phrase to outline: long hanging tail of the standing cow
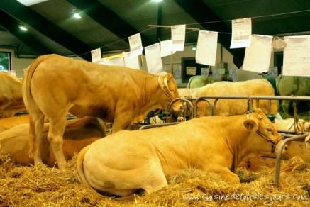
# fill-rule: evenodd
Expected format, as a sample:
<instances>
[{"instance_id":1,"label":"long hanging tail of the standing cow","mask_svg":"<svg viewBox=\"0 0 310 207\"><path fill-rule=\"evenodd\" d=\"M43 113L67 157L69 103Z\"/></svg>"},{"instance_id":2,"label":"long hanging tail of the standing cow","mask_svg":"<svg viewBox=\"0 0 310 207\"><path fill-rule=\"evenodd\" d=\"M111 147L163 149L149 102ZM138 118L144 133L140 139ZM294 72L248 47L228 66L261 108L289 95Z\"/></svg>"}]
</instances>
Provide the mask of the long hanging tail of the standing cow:
<instances>
[{"instance_id":1,"label":"long hanging tail of the standing cow","mask_svg":"<svg viewBox=\"0 0 310 207\"><path fill-rule=\"evenodd\" d=\"M34 110L38 109L37 104L35 103L33 96L31 95L31 79L35 73L35 69L40 65L41 62L45 60L45 55L38 57L31 63L31 65L26 69L26 72L23 76L22 83L22 93L23 93L23 102L26 106L26 109L29 112L29 156L33 157L33 152L35 149L35 123L31 113Z\"/></svg>"}]
</instances>

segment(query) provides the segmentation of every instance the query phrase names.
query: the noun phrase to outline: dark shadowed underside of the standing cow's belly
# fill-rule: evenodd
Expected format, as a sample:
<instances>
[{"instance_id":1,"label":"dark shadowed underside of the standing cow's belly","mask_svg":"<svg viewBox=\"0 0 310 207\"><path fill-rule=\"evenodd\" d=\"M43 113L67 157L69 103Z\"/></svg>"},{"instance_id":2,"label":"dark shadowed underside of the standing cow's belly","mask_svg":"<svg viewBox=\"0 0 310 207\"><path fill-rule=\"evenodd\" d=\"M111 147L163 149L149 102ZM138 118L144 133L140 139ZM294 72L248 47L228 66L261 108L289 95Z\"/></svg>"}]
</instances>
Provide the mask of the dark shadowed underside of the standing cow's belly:
<instances>
[{"instance_id":1,"label":"dark shadowed underside of the standing cow's belly","mask_svg":"<svg viewBox=\"0 0 310 207\"><path fill-rule=\"evenodd\" d=\"M102 118L104 121L114 121L114 112L111 111L111 109L102 106L73 105L69 112L79 118L84 116L94 116Z\"/></svg>"}]
</instances>

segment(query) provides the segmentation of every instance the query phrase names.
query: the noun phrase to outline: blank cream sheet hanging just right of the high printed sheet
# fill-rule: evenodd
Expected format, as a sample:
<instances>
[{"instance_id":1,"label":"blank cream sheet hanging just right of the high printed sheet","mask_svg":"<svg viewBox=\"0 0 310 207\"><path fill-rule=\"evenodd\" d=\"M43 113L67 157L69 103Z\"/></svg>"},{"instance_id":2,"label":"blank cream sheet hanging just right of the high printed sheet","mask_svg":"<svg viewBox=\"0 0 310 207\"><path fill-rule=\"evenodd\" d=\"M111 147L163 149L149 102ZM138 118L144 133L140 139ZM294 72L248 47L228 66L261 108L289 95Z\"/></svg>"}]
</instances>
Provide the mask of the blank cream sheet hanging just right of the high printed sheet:
<instances>
[{"instance_id":1,"label":"blank cream sheet hanging just right of the high printed sheet","mask_svg":"<svg viewBox=\"0 0 310 207\"><path fill-rule=\"evenodd\" d=\"M250 47L245 49L243 70L265 72L269 69L272 36L252 35Z\"/></svg>"}]
</instances>

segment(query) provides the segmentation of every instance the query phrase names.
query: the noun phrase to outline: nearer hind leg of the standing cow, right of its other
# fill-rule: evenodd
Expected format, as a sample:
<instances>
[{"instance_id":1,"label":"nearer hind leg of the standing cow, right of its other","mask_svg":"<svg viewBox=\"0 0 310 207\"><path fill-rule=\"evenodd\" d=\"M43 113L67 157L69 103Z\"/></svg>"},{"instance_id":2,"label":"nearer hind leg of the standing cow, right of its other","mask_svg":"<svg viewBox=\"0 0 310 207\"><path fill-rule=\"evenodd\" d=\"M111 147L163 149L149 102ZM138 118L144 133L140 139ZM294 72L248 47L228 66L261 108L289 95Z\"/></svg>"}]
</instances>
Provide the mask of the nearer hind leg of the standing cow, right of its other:
<instances>
[{"instance_id":1,"label":"nearer hind leg of the standing cow, right of its other","mask_svg":"<svg viewBox=\"0 0 310 207\"><path fill-rule=\"evenodd\" d=\"M62 169L66 163L65 156L62 150L62 136L65 132L66 117L50 119L50 130L48 130L48 142L52 147L58 167Z\"/></svg>"}]
</instances>

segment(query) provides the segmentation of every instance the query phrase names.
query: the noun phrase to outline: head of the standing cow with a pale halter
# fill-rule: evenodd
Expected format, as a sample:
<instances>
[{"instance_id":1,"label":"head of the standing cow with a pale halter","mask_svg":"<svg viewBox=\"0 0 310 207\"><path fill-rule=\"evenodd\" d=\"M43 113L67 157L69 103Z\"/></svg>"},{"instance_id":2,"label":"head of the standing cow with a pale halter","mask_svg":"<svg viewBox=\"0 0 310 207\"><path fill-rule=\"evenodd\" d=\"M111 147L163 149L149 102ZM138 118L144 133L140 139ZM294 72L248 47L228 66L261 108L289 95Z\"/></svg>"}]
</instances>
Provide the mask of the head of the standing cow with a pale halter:
<instances>
[{"instance_id":1,"label":"head of the standing cow with a pale halter","mask_svg":"<svg viewBox=\"0 0 310 207\"><path fill-rule=\"evenodd\" d=\"M158 77L158 83L160 84L160 88L165 93L165 102L169 103L174 99L180 99L179 93L177 91L177 83L173 78L172 74L166 73L160 75ZM169 105L167 104L167 106ZM175 101L172 106L168 109L172 109L172 111L179 112L183 109L183 104L181 100Z\"/></svg>"}]
</instances>

